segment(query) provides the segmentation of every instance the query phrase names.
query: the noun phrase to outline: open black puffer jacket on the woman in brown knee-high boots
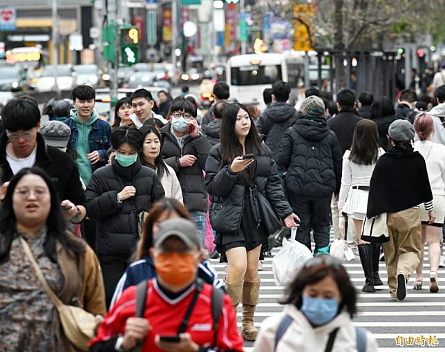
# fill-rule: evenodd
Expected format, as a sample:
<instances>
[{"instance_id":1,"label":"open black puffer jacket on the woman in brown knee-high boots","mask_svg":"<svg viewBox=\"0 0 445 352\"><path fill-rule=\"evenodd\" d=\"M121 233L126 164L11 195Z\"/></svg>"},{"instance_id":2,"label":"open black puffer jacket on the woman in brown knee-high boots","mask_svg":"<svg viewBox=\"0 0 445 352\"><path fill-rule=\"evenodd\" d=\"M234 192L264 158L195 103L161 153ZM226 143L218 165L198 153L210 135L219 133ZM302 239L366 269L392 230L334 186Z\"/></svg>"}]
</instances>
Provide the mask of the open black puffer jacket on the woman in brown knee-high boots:
<instances>
[{"instance_id":1,"label":"open black puffer jacket on the woman in brown knee-high boots","mask_svg":"<svg viewBox=\"0 0 445 352\"><path fill-rule=\"evenodd\" d=\"M292 208L285 199L276 163L270 149L263 144L263 154L255 158L254 183L282 219L292 214ZM205 164L205 184L210 195L210 222L218 233L238 233L243 216L245 186L238 183L236 173L229 171L229 165L220 168L221 145L211 148Z\"/></svg>"}]
</instances>

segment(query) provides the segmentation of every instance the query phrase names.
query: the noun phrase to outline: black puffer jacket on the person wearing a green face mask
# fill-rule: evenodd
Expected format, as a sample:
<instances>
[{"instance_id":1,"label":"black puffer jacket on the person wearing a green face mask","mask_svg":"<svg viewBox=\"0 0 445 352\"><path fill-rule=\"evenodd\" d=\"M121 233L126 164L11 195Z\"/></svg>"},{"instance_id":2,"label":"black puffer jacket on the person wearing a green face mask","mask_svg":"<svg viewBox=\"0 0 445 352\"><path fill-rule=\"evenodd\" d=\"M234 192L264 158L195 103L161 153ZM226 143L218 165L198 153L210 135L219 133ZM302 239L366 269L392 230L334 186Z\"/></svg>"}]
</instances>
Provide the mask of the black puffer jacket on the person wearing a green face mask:
<instances>
[{"instance_id":1,"label":"black puffer jacket on the person wearing a green face mask","mask_svg":"<svg viewBox=\"0 0 445 352\"><path fill-rule=\"evenodd\" d=\"M134 186L136 195L117 204L124 186ZM88 217L98 222L96 253L130 255L139 239L139 214L163 197L158 175L139 161L128 168L113 161L97 169L86 187Z\"/></svg>"}]
</instances>

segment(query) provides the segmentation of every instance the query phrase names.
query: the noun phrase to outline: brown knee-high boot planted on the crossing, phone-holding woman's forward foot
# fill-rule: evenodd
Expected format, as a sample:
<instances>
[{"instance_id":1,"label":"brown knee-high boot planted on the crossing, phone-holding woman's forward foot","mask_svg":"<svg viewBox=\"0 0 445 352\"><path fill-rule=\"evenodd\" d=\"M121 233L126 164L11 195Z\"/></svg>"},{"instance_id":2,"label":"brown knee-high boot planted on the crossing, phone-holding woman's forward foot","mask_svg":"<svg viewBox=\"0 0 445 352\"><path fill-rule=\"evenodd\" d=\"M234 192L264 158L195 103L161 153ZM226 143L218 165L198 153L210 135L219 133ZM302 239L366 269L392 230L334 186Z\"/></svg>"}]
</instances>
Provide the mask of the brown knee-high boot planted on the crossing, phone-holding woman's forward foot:
<instances>
[{"instance_id":1,"label":"brown knee-high boot planted on the crossing, phone-holding woman's forward foot","mask_svg":"<svg viewBox=\"0 0 445 352\"><path fill-rule=\"evenodd\" d=\"M254 313L260 295L260 280L245 281L243 286L243 334L244 340L255 341L258 329L254 326Z\"/></svg>"}]
</instances>

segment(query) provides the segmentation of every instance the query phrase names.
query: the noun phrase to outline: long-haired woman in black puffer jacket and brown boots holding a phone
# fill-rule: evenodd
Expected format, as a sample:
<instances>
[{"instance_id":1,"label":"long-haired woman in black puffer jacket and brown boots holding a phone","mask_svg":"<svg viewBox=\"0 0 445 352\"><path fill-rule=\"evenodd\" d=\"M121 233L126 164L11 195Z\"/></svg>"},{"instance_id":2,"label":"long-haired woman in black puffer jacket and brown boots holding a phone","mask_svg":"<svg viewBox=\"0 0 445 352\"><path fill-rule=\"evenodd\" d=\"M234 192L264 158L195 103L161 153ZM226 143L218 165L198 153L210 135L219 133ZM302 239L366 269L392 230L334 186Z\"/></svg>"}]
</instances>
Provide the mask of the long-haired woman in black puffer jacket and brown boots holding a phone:
<instances>
[{"instance_id":1,"label":"long-haired woman in black puffer jacket and brown boots holding a phone","mask_svg":"<svg viewBox=\"0 0 445 352\"><path fill-rule=\"evenodd\" d=\"M211 149L205 170L216 248L220 262L228 262L227 293L235 307L243 303L242 333L245 340L253 341L258 333L254 326L260 289L258 260L269 235L258 197L267 199L287 227L297 226L299 218L285 199L272 153L261 144L254 121L242 104L225 108L221 143Z\"/></svg>"}]
</instances>

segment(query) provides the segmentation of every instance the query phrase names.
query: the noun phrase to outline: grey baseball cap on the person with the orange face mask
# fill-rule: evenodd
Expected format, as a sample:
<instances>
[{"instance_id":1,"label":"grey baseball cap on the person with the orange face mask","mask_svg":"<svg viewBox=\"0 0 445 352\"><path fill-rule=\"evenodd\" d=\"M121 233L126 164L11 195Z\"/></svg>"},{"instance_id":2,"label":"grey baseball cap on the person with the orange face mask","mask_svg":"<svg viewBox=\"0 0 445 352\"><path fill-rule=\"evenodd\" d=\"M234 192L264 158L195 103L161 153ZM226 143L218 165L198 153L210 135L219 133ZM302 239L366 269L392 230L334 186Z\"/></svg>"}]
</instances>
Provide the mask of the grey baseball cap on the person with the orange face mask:
<instances>
[{"instance_id":1,"label":"grey baseball cap on the person with the orange face mask","mask_svg":"<svg viewBox=\"0 0 445 352\"><path fill-rule=\"evenodd\" d=\"M188 219L178 217L161 222L155 234L153 244L160 246L171 236L179 237L190 249L193 248L193 246L197 246L198 248L201 246L200 234L196 229L195 223Z\"/></svg>"}]
</instances>

